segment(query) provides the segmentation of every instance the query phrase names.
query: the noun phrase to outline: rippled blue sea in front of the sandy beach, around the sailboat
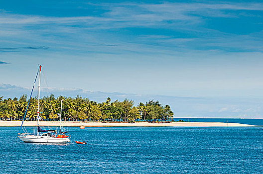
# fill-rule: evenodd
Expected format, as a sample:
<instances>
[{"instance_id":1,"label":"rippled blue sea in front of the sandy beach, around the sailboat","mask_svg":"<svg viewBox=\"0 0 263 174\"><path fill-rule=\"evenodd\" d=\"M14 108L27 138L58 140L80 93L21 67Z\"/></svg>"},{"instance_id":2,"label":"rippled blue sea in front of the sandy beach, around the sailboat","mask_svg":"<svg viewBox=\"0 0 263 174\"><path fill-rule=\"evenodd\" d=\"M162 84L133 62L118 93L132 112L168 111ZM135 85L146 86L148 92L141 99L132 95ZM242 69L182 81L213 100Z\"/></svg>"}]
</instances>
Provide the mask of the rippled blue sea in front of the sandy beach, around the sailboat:
<instances>
[{"instance_id":1,"label":"rippled blue sea in front of the sandy beach, around the sailboat","mask_svg":"<svg viewBox=\"0 0 263 174\"><path fill-rule=\"evenodd\" d=\"M0 127L1 174L263 173L263 127L68 128L87 145L23 143L18 129Z\"/></svg>"}]
</instances>

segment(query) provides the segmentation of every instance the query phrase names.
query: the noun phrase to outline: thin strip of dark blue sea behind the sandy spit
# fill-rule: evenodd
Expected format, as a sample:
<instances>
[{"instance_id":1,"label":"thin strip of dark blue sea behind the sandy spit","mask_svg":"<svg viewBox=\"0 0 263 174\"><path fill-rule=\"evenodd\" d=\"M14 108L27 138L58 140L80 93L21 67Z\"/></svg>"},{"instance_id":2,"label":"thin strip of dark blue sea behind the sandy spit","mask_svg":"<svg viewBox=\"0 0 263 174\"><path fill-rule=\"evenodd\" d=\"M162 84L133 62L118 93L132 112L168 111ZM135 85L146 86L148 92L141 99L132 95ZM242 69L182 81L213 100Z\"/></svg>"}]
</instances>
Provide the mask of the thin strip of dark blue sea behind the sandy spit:
<instances>
[{"instance_id":1,"label":"thin strip of dark blue sea behind the sandy spit","mask_svg":"<svg viewBox=\"0 0 263 174\"><path fill-rule=\"evenodd\" d=\"M226 123L242 123L263 126L263 119L250 119L250 118L174 118L174 121L190 121L190 122L223 122Z\"/></svg>"}]
</instances>

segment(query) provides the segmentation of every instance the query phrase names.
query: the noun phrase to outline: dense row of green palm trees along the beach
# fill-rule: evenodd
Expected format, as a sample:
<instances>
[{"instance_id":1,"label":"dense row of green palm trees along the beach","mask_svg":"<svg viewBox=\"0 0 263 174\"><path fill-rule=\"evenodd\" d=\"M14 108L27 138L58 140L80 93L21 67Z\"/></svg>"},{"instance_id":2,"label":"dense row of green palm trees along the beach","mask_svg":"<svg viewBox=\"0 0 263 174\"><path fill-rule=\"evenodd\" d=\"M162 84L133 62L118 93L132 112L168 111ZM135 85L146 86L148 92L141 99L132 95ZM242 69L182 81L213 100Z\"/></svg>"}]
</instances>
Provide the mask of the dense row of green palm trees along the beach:
<instances>
[{"instance_id":1,"label":"dense row of green palm trees along the beach","mask_svg":"<svg viewBox=\"0 0 263 174\"><path fill-rule=\"evenodd\" d=\"M133 106L134 101L111 101L98 103L77 96L55 98L53 94L40 99L40 116L42 120L58 121L60 102L63 100L63 121L153 121L172 120L173 112L169 105L162 106L158 101L149 100L145 104L140 102ZM28 103L27 95L18 98L3 99L0 96L0 120L22 120ZM37 97L32 97L28 105L25 120L35 120L37 117Z\"/></svg>"}]
</instances>

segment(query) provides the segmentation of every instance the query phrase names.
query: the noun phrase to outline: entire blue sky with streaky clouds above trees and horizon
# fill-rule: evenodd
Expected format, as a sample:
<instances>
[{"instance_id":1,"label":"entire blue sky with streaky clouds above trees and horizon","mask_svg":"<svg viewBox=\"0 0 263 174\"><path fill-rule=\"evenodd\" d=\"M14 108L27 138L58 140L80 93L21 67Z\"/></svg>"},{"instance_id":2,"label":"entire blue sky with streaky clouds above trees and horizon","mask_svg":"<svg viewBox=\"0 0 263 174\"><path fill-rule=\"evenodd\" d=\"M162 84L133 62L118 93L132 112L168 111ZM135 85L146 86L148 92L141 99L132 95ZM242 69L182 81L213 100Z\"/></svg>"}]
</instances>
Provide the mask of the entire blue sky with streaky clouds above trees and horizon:
<instances>
[{"instance_id":1,"label":"entire blue sky with streaky clouds above trees and horizon","mask_svg":"<svg viewBox=\"0 0 263 174\"><path fill-rule=\"evenodd\" d=\"M149 99L175 117L263 118L261 0L2 0L0 95Z\"/></svg>"}]
</instances>

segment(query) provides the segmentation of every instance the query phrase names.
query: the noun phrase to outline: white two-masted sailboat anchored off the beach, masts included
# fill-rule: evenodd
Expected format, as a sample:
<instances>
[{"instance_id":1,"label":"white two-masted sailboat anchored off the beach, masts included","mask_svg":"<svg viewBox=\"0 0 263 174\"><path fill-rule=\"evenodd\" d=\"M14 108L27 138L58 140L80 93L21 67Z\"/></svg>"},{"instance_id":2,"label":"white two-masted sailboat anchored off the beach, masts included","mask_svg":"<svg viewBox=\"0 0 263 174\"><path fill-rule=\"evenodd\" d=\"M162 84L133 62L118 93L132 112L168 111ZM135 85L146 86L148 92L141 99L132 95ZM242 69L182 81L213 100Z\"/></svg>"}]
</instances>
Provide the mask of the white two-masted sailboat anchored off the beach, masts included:
<instances>
[{"instance_id":1,"label":"white two-masted sailboat anchored off the beach, masts included","mask_svg":"<svg viewBox=\"0 0 263 174\"><path fill-rule=\"evenodd\" d=\"M27 104L26 111L24 114L24 118L23 118L23 121L22 121L21 126L20 126L18 138L25 143L64 143L64 144L70 143L70 135L66 135L66 133L68 133L68 132L61 130L62 100L61 100L61 107L60 107L59 133L57 132L57 130L54 130L54 129L48 129L48 130L41 129L39 126L39 121L41 120L41 117L40 117L41 112L40 112L40 108L39 108L41 67L42 66L39 65L39 68L38 68L38 71L36 74L36 78L34 81L34 85L32 87L30 98L28 100L28 104ZM22 127L22 126L23 126L23 122L24 122L24 119L26 116L26 112L27 112L28 105L29 105L29 102L30 102L30 99L32 96L33 89L35 87L35 83L36 83L36 79L37 79L38 74L39 74L39 78L38 78L39 79L39 85L38 85L37 128L36 128L36 130L34 130L33 133L28 133L26 131L25 127ZM23 130L23 133L20 133L21 129Z\"/></svg>"}]
</instances>

